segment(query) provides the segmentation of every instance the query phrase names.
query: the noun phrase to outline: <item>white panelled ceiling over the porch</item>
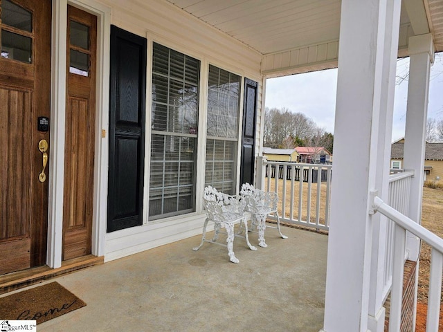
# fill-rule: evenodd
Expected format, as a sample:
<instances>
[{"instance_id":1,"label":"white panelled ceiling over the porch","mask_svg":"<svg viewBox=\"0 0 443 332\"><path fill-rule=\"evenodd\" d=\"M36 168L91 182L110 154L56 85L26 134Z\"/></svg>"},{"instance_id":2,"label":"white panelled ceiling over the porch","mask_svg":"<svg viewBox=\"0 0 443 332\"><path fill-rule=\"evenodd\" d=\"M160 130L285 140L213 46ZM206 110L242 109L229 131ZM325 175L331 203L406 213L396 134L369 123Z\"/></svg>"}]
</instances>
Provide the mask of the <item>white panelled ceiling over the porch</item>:
<instances>
[{"instance_id":1,"label":"white panelled ceiling over the porch","mask_svg":"<svg viewBox=\"0 0 443 332\"><path fill-rule=\"evenodd\" d=\"M341 0L167 1L262 55L330 42L339 37ZM424 0L423 3L404 0L404 3L409 3L409 7L402 6L401 25L410 24L413 35L422 34L428 26L428 32L434 35L436 50L442 51L443 0ZM406 9L413 14L407 15ZM420 33L415 31L418 28Z\"/></svg>"}]
</instances>

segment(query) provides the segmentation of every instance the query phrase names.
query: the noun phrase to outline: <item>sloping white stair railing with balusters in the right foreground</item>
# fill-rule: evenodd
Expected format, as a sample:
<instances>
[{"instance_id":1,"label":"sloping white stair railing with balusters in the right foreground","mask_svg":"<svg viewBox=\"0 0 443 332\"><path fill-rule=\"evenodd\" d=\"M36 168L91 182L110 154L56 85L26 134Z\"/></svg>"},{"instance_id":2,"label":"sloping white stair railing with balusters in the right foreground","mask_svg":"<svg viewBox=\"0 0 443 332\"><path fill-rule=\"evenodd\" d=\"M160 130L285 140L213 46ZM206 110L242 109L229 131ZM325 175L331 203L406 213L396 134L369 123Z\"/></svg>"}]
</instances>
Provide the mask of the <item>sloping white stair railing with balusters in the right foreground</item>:
<instances>
[{"instance_id":1,"label":"sloping white stair railing with balusters in the right foreground","mask_svg":"<svg viewBox=\"0 0 443 332\"><path fill-rule=\"evenodd\" d=\"M401 299L403 293L404 253L406 250L406 230L428 243L432 248L431 273L428 289L428 314L426 318L426 331L438 332L440 317L440 296L442 292L443 271L443 239L433 232L426 230L422 225L415 223L401 212L384 203L377 192L373 193L374 212L380 212L395 223L392 288L390 301L389 331L400 331Z\"/></svg>"}]
</instances>

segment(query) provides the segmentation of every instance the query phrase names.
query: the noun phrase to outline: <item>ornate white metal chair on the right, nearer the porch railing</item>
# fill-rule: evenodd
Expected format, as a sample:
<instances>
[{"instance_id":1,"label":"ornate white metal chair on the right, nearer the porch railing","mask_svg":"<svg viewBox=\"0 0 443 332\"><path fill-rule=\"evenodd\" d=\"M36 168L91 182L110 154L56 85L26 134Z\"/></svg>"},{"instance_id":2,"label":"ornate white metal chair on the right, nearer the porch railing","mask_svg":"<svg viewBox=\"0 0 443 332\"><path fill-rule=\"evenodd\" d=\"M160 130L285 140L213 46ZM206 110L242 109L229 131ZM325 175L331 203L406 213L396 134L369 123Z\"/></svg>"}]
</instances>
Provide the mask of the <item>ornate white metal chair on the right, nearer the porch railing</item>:
<instances>
[{"instance_id":1,"label":"ornate white metal chair on the right, nearer the porch railing","mask_svg":"<svg viewBox=\"0 0 443 332\"><path fill-rule=\"evenodd\" d=\"M246 211L251 212L251 231L255 232L255 226L257 226L260 247L268 246L264 242L264 230L266 230L266 216L271 213L277 216L277 227L270 225L267 227L277 229L283 239L288 238L280 231L280 217L277 212L278 195L275 192L264 192L249 183L244 183L240 195L245 199Z\"/></svg>"}]
</instances>

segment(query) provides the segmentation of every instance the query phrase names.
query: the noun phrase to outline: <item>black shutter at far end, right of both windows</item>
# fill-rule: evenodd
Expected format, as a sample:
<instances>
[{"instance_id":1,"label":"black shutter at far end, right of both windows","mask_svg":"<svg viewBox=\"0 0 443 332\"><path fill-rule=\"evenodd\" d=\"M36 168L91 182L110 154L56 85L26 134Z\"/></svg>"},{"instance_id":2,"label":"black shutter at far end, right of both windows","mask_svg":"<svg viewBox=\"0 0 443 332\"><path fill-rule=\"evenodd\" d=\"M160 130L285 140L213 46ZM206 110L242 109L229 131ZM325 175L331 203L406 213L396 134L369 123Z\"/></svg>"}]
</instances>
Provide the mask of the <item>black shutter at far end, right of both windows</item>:
<instances>
[{"instance_id":1,"label":"black shutter at far end, right of both windows","mask_svg":"<svg viewBox=\"0 0 443 332\"><path fill-rule=\"evenodd\" d=\"M254 182L255 167L255 118L257 114L258 83L244 79L242 163L240 165L240 186Z\"/></svg>"}]
</instances>

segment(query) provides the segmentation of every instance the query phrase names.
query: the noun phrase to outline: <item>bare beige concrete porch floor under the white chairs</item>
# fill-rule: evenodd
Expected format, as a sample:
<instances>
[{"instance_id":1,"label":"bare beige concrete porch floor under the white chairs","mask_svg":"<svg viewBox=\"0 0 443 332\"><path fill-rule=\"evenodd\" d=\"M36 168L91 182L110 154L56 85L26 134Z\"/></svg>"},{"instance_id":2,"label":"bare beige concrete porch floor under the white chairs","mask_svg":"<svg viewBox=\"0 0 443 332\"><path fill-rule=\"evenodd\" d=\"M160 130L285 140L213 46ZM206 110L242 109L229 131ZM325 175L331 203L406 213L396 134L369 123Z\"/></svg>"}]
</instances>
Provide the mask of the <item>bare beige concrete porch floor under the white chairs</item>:
<instances>
[{"instance_id":1,"label":"bare beige concrete porch floor under the white chairs","mask_svg":"<svg viewBox=\"0 0 443 332\"><path fill-rule=\"evenodd\" d=\"M268 248L249 233L257 251L236 238L239 264L215 244L193 251L201 240L196 236L57 277L48 282L59 282L87 306L37 331L318 332L327 236L284 226L282 233L289 239L266 230Z\"/></svg>"}]
</instances>

